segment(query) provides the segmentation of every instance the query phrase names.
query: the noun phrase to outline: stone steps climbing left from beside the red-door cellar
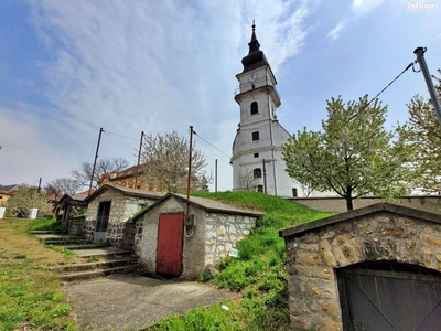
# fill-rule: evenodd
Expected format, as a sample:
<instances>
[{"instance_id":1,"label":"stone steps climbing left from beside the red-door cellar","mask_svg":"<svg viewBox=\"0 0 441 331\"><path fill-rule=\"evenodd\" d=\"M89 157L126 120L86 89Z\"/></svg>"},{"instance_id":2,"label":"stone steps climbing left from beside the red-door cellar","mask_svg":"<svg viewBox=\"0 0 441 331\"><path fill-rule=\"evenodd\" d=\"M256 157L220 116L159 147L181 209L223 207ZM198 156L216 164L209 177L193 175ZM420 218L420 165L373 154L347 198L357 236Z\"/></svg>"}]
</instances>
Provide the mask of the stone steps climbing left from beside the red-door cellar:
<instances>
[{"instance_id":1,"label":"stone steps climbing left from beside the red-door cellar","mask_svg":"<svg viewBox=\"0 0 441 331\"><path fill-rule=\"evenodd\" d=\"M62 281L75 281L105 277L114 274L141 271L138 258L130 252L114 247L104 247L103 243L90 243L82 237L33 232L46 245L62 246L75 253L78 260L63 266L51 267Z\"/></svg>"}]
</instances>

